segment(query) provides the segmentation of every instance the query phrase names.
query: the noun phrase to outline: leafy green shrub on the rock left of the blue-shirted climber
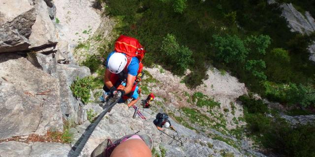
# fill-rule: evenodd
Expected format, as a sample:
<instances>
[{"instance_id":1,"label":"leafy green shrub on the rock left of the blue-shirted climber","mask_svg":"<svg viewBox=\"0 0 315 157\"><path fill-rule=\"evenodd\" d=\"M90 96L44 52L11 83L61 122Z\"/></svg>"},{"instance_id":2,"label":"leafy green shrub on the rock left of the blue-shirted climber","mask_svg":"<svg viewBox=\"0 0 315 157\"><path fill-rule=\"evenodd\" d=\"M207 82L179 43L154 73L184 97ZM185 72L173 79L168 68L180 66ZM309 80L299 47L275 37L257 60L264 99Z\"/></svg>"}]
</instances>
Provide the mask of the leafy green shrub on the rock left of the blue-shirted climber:
<instances>
[{"instance_id":1,"label":"leafy green shrub on the rock left of the blue-shirted climber","mask_svg":"<svg viewBox=\"0 0 315 157\"><path fill-rule=\"evenodd\" d=\"M76 78L70 86L70 89L75 98L81 98L82 103L87 104L90 100L92 89L92 78Z\"/></svg>"}]
</instances>

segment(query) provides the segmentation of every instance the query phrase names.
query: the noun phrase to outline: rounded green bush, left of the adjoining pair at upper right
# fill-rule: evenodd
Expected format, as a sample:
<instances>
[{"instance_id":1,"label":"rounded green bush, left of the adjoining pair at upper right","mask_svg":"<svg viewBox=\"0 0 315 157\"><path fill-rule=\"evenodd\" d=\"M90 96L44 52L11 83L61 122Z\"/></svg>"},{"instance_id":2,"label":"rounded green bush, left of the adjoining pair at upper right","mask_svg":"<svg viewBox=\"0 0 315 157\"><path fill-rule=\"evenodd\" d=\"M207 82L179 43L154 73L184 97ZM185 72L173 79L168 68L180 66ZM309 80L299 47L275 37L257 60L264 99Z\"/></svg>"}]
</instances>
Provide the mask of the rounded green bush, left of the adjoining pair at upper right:
<instances>
[{"instance_id":1,"label":"rounded green bush, left of the adjoining pair at upper right","mask_svg":"<svg viewBox=\"0 0 315 157\"><path fill-rule=\"evenodd\" d=\"M213 35L213 47L217 51L217 57L224 61L229 62L244 62L249 49L244 45L244 42L236 35Z\"/></svg>"}]
</instances>

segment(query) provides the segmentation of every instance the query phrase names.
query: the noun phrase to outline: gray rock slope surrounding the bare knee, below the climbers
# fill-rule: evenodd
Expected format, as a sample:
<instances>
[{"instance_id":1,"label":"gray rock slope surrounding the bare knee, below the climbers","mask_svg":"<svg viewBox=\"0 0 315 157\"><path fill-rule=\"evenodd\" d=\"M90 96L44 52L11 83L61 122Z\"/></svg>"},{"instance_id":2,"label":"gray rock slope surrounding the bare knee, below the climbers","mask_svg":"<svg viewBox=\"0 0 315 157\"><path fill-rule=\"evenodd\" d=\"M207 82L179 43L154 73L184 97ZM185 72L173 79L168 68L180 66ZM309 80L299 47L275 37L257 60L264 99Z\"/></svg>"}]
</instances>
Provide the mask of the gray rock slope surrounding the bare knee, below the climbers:
<instances>
[{"instance_id":1,"label":"gray rock slope surrounding the bare knee, below the climbers","mask_svg":"<svg viewBox=\"0 0 315 157\"><path fill-rule=\"evenodd\" d=\"M95 103L87 104L86 108L93 109L98 114L103 110L100 105ZM128 108L125 104L115 105L95 128L80 157L90 157L91 152L106 138L117 139L136 131L140 131L139 134L150 135L157 150L159 150L159 146L162 146L166 150L166 157L221 157L221 152L233 154L234 157L247 157L247 155L242 154L238 149L225 142L198 135L196 132L170 119L171 124L176 128L179 137L183 141L183 146L180 146L179 142L158 131L153 124L156 112L151 109L140 109L140 111L147 118L146 120L139 117L133 119L134 109L132 107ZM76 140L79 139L89 125L89 122L85 122L83 125L79 125L73 129ZM171 136L176 134L174 131L168 129L164 129L164 131Z\"/></svg>"}]
</instances>

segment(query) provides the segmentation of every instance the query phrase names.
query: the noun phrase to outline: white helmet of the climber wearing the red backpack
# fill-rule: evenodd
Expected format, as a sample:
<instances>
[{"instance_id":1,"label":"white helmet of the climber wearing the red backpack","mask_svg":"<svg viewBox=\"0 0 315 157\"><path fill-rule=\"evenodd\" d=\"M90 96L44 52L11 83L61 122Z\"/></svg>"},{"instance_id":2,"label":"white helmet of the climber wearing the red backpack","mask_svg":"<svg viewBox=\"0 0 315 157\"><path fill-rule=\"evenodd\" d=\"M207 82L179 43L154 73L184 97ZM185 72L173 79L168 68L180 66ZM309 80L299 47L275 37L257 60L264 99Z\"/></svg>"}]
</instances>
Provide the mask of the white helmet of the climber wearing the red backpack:
<instances>
[{"instance_id":1,"label":"white helmet of the climber wearing the red backpack","mask_svg":"<svg viewBox=\"0 0 315 157\"><path fill-rule=\"evenodd\" d=\"M126 64L126 55L116 52L109 57L107 68L111 73L118 74L124 70Z\"/></svg>"}]
</instances>

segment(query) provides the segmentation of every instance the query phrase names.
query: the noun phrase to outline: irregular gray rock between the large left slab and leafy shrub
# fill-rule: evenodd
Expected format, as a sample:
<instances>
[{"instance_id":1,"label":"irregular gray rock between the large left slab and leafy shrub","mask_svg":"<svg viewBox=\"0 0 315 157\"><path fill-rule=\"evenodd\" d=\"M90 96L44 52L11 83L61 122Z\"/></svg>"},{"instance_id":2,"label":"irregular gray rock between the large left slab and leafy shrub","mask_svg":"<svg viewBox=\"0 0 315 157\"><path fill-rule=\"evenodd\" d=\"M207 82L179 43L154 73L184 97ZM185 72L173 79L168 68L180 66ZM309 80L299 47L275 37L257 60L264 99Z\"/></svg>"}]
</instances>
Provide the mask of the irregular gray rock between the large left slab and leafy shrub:
<instances>
[{"instance_id":1,"label":"irregular gray rock between the large left slab and leafy shrub","mask_svg":"<svg viewBox=\"0 0 315 157\"><path fill-rule=\"evenodd\" d=\"M75 64L58 64L58 55L55 53L37 53L36 57L43 71L59 79L63 118L82 124L87 120L85 107L73 97L70 86L77 77L84 78L91 75L90 69Z\"/></svg>"}]
</instances>

